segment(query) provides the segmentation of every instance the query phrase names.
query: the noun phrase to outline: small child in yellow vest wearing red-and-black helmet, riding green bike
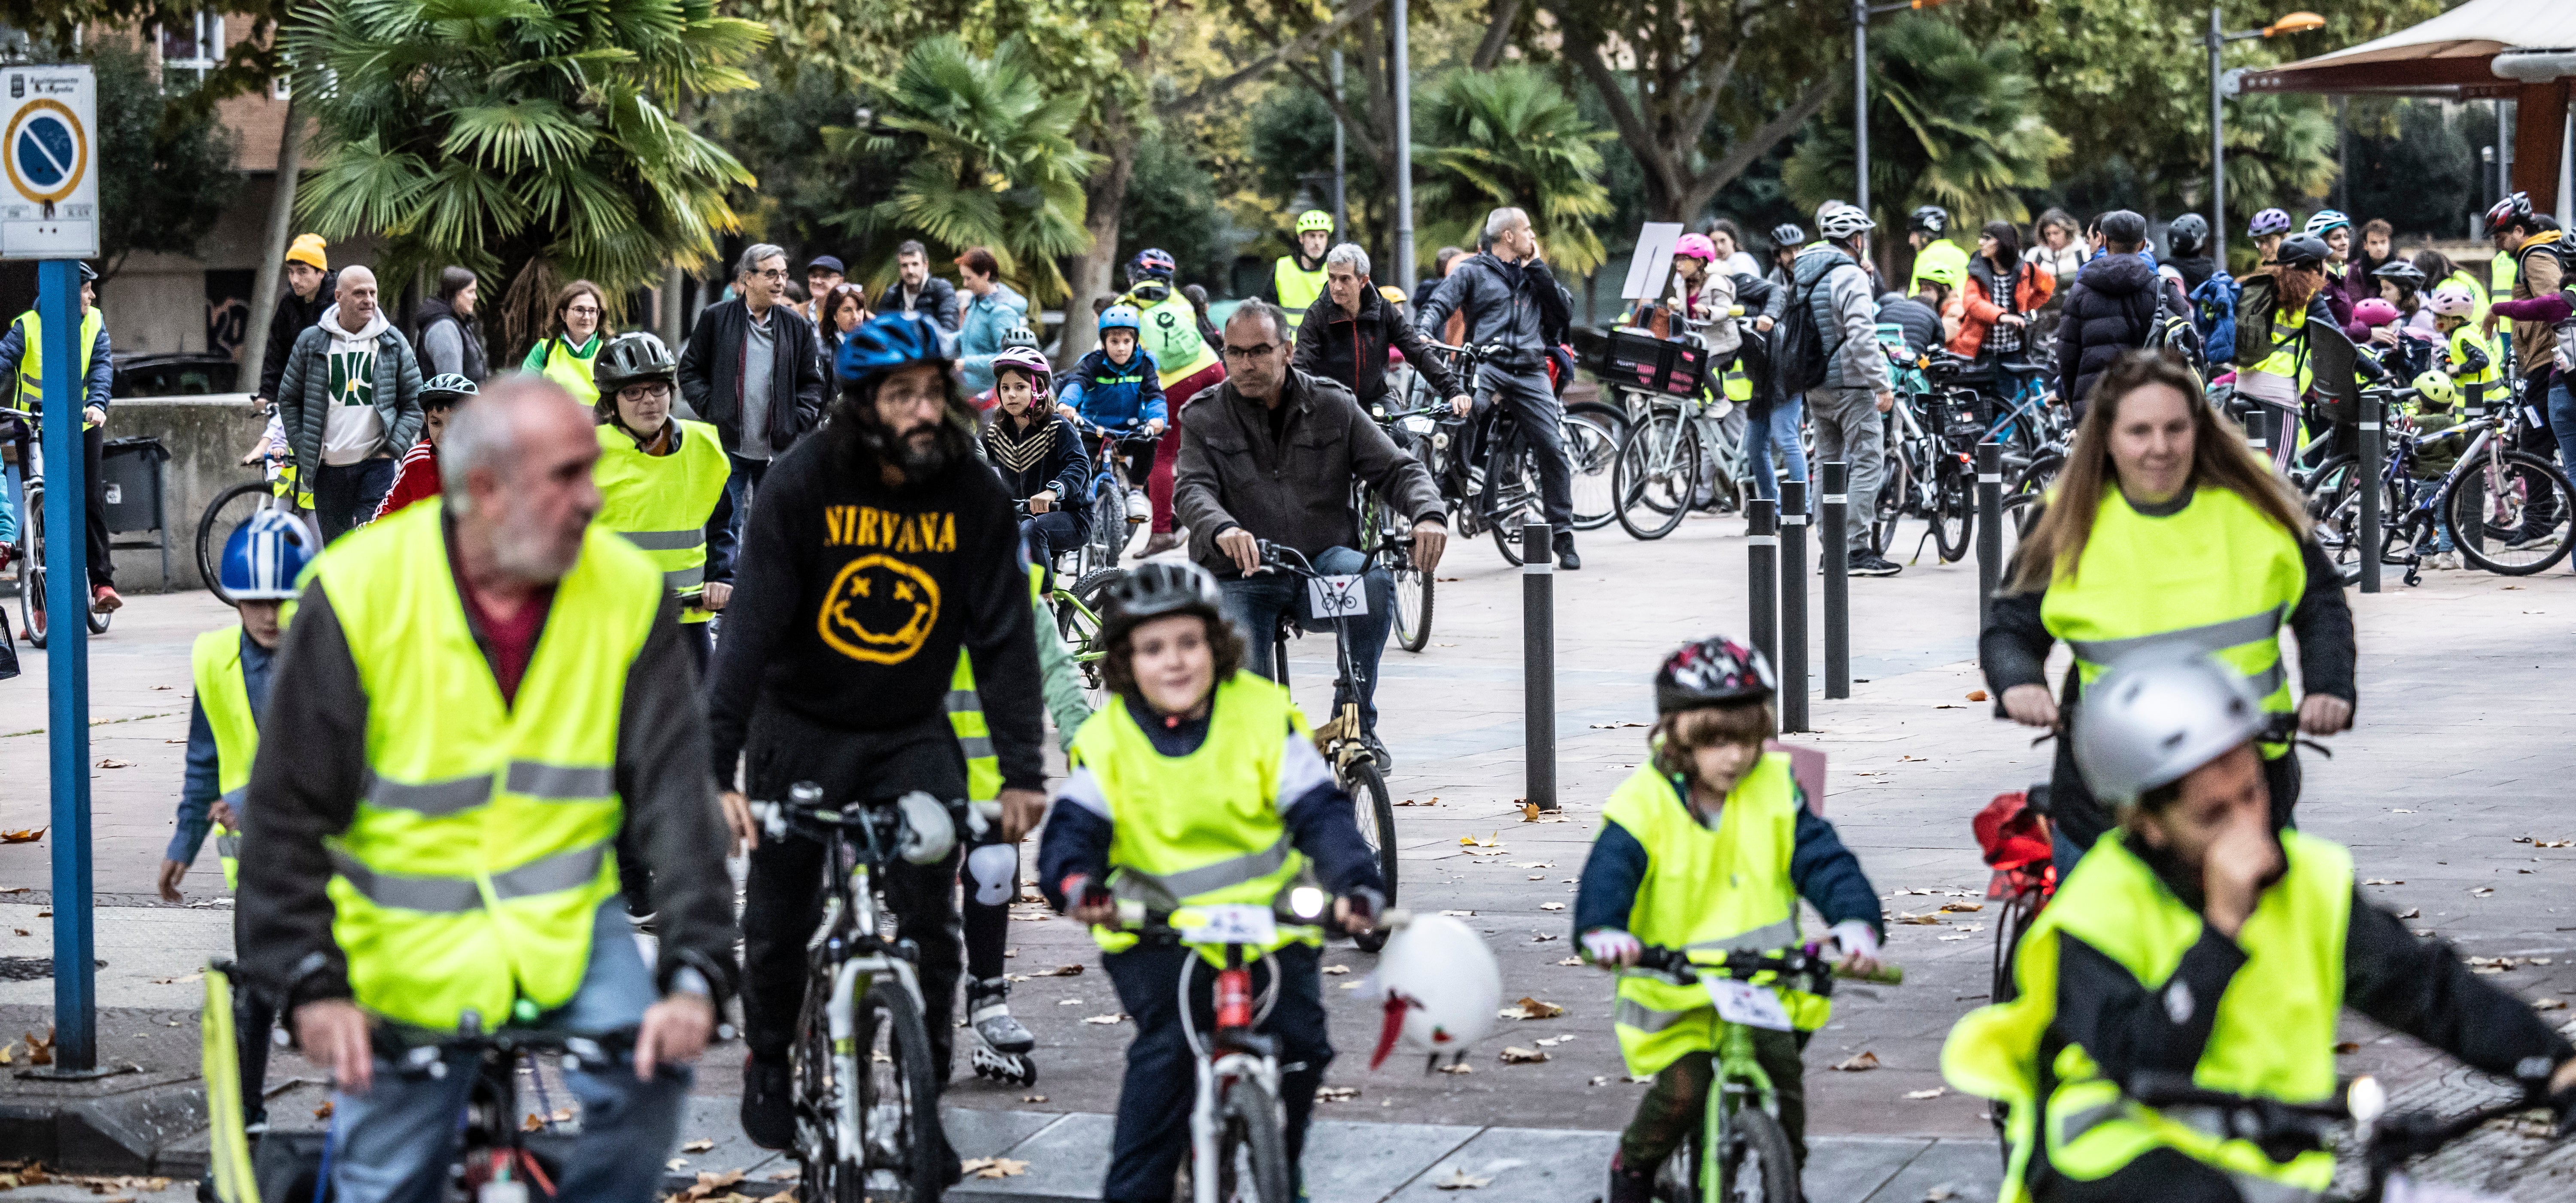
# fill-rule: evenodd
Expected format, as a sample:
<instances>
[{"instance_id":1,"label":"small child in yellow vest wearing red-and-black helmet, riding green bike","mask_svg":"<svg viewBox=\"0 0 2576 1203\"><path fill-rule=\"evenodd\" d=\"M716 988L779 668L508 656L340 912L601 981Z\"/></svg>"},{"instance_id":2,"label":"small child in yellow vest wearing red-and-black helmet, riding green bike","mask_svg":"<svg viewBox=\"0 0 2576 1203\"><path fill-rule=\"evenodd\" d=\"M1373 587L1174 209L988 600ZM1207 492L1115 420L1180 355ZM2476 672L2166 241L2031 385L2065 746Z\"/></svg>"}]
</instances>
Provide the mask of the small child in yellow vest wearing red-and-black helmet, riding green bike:
<instances>
[{"instance_id":1,"label":"small child in yellow vest wearing red-and-black helmet, riding green bike","mask_svg":"<svg viewBox=\"0 0 2576 1203\"><path fill-rule=\"evenodd\" d=\"M1878 969L1878 889L1834 824L1790 778L1775 732L1772 670L1723 636L1685 644L1654 677L1654 755L1602 806L1602 829L1574 896L1584 958L1618 971L1618 1046L1631 1074L1654 1074L1620 1133L1607 1203L1646 1203L1656 1170L1700 1123L1726 1023L1703 987L1633 971L1646 945L1775 951L1798 945L1798 899L1816 904L1842 969ZM1757 979L1754 984L1765 984ZM1754 1028L1780 1128L1806 1159L1798 1061L1829 999L1772 984L1795 1030Z\"/></svg>"}]
</instances>

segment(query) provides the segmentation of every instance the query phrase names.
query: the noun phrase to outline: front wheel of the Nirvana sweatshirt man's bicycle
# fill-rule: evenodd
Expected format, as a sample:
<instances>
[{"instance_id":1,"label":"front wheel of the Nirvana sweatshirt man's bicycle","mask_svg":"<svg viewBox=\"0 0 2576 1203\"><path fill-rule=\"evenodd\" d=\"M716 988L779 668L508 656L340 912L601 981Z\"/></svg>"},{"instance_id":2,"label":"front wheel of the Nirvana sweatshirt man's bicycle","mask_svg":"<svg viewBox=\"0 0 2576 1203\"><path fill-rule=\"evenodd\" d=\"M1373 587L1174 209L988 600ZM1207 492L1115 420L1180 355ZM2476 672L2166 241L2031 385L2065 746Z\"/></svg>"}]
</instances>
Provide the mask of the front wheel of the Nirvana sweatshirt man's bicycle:
<instances>
[{"instance_id":1,"label":"front wheel of the Nirvana sweatshirt man's bicycle","mask_svg":"<svg viewBox=\"0 0 2576 1203\"><path fill-rule=\"evenodd\" d=\"M930 1030L912 994L891 976L858 1002L860 1170L873 1203L938 1203L956 1154L940 1131L940 1079Z\"/></svg>"}]
</instances>

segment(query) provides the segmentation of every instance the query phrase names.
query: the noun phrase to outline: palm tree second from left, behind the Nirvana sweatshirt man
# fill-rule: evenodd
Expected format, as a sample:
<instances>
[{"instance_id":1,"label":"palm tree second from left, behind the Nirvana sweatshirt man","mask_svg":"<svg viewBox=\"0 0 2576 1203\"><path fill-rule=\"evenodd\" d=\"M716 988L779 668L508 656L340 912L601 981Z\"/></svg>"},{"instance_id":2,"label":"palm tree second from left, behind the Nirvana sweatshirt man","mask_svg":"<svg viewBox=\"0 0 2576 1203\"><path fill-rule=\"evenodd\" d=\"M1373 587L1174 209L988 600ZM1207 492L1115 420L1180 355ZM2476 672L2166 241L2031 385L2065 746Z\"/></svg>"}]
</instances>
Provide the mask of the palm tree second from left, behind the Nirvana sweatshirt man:
<instances>
[{"instance_id":1,"label":"palm tree second from left, behind the Nirvana sweatshirt man","mask_svg":"<svg viewBox=\"0 0 2576 1203\"><path fill-rule=\"evenodd\" d=\"M1018 39L981 59L956 36L912 46L878 95L873 129L824 126L832 155L899 155L894 196L829 222L858 237L917 234L987 247L1033 301L1072 294L1061 258L1090 250L1082 180L1100 162L1074 144L1082 98L1048 98ZM884 265L891 270L891 258Z\"/></svg>"}]
</instances>

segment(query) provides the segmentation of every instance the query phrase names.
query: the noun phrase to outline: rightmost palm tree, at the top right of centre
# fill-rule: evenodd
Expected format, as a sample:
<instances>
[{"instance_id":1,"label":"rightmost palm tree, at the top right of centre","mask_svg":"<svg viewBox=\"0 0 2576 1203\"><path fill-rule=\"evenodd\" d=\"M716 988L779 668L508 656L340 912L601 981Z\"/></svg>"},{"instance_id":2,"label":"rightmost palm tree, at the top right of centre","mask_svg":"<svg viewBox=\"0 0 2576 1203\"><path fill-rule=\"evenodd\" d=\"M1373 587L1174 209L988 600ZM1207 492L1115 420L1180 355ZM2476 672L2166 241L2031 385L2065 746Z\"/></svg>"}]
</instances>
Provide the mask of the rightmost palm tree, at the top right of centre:
<instances>
[{"instance_id":1,"label":"rightmost palm tree, at the top right of centre","mask_svg":"<svg viewBox=\"0 0 2576 1203\"><path fill-rule=\"evenodd\" d=\"M2014 188L2045 188L2066 139L2040 121L2038 88L2009 41L1976 46L1958 26L1899 18L1870 36L1870 198L1880 229L1937 204L1955 222L2030 211ZM1837 108L1850 106L1850 98ZM1816 206L1852 196L1852 113L1826 111L1783 170L1790 196ZM1880 240L1880 242L1893 242Z\"/></svg>"}]
</instances>

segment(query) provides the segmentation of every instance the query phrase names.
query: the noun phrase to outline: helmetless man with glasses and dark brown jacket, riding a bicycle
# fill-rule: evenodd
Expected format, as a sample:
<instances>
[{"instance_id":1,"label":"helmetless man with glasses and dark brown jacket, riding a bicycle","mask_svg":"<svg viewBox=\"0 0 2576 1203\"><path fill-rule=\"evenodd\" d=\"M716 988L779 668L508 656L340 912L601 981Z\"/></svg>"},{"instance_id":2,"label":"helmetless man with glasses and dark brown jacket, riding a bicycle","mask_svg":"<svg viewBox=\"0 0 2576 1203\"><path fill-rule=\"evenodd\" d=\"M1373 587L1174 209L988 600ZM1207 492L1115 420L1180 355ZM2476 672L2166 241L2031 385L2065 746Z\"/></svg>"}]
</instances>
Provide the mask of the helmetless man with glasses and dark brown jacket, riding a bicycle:
<instances>
[{"instance_id":1,"label":"helmetless man with glasses and dark brown jacket, riding a bicycle","mask_svg":"<svg viewBox=\"0 0 2576 1203\"><path fill-rule=\"evenodd\" d=\"M1260 574L1260 541L1298 549L1316 572L1360 572L1360 515L1350 482L1363 479L1386 505L1414 520L1414 564L1430 574L1448 546L1448 510L1432 474L1378 430L1360 402L1334 379L1288 366L1288 317L1270 301L1244 301L1226 319L1226 381L1200 394L1180 435L1180 477L1172 507L1190 528L1190 559L1216 572L1226 618L1249 644L1247 667L1278 677L1270 631L1296 605L1298 621L1316 623L1306 582ZM1368 613L1345 618L1358 639L1352 659L1368 683L1360 721L1378 768L1394 768L1378 742L1378 657L1394 616L1396 585L1383 567L1368 572ZM1334 708L1347 698L1334 696Z\"/></svg>"}]
</instances>

